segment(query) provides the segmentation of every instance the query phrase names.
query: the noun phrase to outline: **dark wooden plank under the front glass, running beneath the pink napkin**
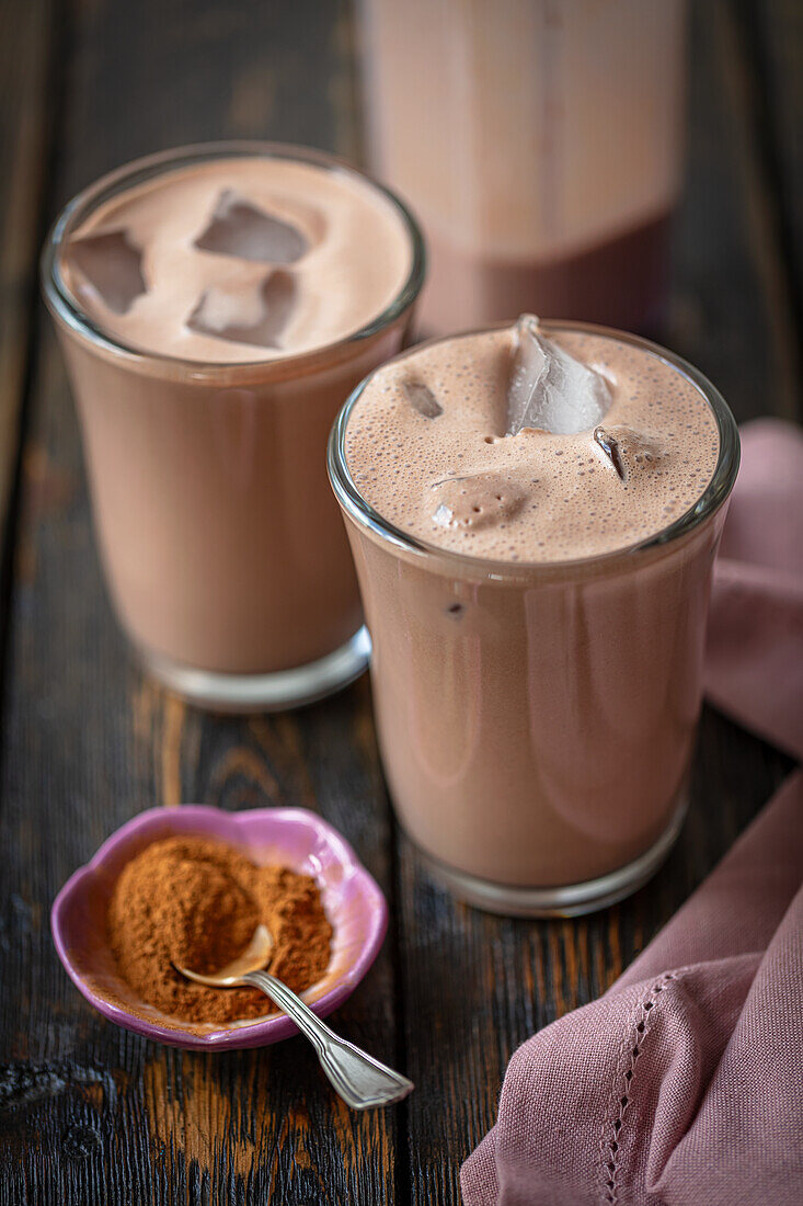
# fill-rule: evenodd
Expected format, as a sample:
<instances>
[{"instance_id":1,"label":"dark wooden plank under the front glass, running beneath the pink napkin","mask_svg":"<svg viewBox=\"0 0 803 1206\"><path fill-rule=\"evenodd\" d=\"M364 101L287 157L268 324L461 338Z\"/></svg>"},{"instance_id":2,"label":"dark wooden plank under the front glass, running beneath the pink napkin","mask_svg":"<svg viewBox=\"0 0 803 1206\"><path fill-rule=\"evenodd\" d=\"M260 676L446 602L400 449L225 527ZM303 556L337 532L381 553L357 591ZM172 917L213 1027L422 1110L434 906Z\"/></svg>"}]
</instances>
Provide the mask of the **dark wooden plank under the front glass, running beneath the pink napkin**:
<instances>
[{"instance_id":1,"label":"dark wooden plank under the front glass, running beneath the pink napkin","mask_svg":"<svg viewBox=\"0 0 803 1206\"><path fill-rule=\"evenodd\" d=\"M663 339L707 371L744 420L789 410L795 369L775 338L779 250L757 123L745 119L754 98L732 60L732 12L719 2L691 8L687 183ZM666 867L632 900L579 921L504 920L457 904L400 842L400 1020L418 1085L406 1111L412 1202L459 1201L459 1164L494 1119L515 1048L612 983L787 768L781 755L707 712L688 821Z\"/></svg>"}]
</instances>

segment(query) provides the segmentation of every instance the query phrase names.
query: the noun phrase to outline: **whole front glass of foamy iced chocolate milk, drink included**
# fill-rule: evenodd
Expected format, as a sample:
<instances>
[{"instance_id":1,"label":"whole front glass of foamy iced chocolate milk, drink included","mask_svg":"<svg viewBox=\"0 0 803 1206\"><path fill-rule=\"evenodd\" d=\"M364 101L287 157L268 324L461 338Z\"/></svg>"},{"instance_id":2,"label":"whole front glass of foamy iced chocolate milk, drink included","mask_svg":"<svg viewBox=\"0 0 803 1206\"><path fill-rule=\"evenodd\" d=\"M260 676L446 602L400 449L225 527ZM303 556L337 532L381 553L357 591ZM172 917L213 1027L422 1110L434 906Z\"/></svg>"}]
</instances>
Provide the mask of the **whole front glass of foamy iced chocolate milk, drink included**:
<instances>
[{"instance_id":1,"label":"whole front glass of foamy iced chocolate milk, drink included","mask_svg":"<svg viewBox=\"0 0 803 1206\"><path fill-rule=\"evenodd\" d=\"M529 315L395 357L341 411L385 771L463 900L573 915L666 857L738 458L676 356Z\"/></svg>"}]
</instances>

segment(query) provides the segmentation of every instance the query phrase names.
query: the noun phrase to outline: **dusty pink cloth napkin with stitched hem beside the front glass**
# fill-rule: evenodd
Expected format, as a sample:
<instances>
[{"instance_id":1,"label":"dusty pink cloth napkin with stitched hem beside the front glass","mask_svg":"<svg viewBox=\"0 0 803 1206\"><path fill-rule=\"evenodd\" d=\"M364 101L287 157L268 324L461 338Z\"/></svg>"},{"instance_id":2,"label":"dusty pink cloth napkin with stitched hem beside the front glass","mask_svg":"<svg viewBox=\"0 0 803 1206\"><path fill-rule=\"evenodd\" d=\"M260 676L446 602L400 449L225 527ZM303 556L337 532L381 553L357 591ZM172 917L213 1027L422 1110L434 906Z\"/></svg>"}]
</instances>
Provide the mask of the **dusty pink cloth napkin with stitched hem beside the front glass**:
<instances>
[{"instance_id":1,"label":"dusty pink cloth napkin with stitched hem beside the front glass","mask_svg":"<svg viewBox=\"0 0 803 1206\"><path fill-rule=\"evenodd\" d=\"M707 691L803 757L803 435L742 435ZM616 984L514 1054L465 1206L799 1206L802 883L797 771Z\"/></svg>"}]
</instances>

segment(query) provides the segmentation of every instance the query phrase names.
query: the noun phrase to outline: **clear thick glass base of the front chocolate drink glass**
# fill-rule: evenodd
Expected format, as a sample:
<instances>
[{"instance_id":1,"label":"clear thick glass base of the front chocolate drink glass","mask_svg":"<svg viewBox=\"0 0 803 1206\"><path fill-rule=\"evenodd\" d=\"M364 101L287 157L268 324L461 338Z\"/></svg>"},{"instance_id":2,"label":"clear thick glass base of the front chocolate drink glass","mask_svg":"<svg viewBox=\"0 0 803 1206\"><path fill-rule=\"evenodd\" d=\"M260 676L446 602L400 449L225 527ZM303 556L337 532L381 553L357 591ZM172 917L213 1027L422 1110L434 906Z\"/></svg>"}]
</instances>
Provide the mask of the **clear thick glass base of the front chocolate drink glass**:
<instances>
[{"instance_id":1,"label":"clear thick glass base of the front chocolate drink glass","mask_svg":"<svg viewBox=\"0 0 803 1206\"><path fill-rule=\"evenodd\" d=\"M598 879L587 879L582 884L511 888L468 876L439 862L420 847L417 849L435 879L458 900L485 909L486 913L500 913L504 917L581 917L631 896L656 873L678 839L687 807L688 798L684 791L680 806L655 845L626 867Z\"/></svg>"}]
</instances>

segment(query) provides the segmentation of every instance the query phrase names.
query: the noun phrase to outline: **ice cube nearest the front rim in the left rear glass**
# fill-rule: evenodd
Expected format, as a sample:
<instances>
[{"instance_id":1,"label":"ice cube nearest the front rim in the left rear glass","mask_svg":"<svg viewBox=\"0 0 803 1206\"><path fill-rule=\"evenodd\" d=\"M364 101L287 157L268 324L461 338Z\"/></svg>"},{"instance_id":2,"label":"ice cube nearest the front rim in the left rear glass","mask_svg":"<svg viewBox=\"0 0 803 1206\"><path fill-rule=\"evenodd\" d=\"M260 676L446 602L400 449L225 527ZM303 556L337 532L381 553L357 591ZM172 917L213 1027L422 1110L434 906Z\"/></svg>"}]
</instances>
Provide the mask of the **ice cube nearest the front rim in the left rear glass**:
<instances>
[{"instance_id":1,"label":"ice cube nearest the front rim in the left rear glass","mask_svg":"<svg viewBox=\"0 0 803 1206\"><path fill-rule=\"evenodd\" d=\"M201 294L187 326L213 339L279 349L295 306L295 277L281 268L270 273L256 292L211 286Z\"/></svg>"}]
</instances>

